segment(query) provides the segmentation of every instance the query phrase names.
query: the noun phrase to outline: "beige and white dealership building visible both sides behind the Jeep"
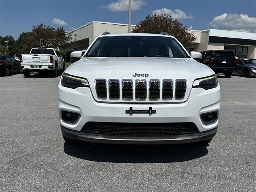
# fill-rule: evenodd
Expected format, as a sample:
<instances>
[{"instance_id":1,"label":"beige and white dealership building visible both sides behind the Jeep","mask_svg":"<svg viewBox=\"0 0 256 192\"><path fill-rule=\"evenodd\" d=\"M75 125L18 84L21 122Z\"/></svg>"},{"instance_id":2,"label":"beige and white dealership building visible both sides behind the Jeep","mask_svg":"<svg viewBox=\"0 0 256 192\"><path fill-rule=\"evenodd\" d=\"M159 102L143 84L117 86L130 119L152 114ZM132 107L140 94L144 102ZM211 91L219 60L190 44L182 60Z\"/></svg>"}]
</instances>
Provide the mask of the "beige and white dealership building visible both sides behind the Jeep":
<instances>
[{"instance_id":1,"label":"beige and white dealership building visible both sides behind the Jeep","mask_svg":"<svg viewBox=\"0 0 256 192\"><path fill-rule=\"evenodd\" d=\"M132 28L136 27L131 25ZM71 42L66 51L84 50L103 32L111 34L127 33L128 24L92 21L67 34L71 35ZM196 36L189 51L202 52L205 50L232 50L237 57L256 58L256 34L227 30L190 30Z\"/></svg>"}]
</instances>

